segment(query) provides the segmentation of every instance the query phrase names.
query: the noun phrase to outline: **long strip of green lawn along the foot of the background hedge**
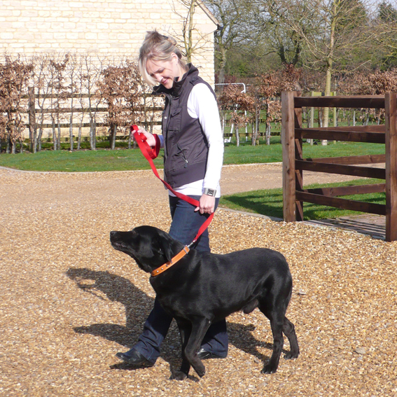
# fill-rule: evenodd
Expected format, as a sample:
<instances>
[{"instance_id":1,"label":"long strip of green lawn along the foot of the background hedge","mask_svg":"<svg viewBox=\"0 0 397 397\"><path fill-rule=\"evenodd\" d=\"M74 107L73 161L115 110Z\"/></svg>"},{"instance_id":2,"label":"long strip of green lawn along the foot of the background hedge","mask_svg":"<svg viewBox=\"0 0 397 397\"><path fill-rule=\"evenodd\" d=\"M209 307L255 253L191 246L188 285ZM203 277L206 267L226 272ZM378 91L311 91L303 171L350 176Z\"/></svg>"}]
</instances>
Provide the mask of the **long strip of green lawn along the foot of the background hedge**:
<instances>
[{"instance_id":1,"label":"long strip of green lawn along the foot of the background hedge","mask_svg":"<svg viewBox=\"0 0 397 397\"><path fill-rule=\"evenodd\" d=\"M120 142L120 145L125 142ZM367 155L384 153L382 144L362 143L330 143L327 146L303 144L303 156L338 157L344 155ZM239 147L225 144L223 164L251 164L263 162L281 162L282 148L280 137L272 137L271 144L251 146L249 142L242 142ZM155 160L156 167L162 167L162 152ZM46 150L39 153L0 154L0 166L30 171L120 171L130 169L149 169L150 166L139 151L139 148L126 149L118 147L115 151L100 148L97 151Z\"/></svg>"}]
</instances>

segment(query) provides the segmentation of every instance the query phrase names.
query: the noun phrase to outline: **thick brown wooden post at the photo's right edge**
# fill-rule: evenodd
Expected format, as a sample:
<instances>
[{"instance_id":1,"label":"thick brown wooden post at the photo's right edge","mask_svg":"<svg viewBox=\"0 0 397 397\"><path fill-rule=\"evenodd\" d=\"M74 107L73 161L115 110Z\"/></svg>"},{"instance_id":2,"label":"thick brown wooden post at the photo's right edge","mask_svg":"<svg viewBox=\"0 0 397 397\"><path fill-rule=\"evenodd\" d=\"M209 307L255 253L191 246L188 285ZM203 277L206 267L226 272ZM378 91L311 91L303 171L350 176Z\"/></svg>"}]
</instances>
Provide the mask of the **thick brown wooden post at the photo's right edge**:
<instances>
[{"instance_id":1,"label":"thick brown wooden post at the photo's right edge","mask_svg":"<svg viewBox=\"0 0 397 397\"><path fill-rule=\"evenodd\" d=\"M397 94L384 95L386 113L386 242L397 240Z\"/></svg>"}]
</instances>

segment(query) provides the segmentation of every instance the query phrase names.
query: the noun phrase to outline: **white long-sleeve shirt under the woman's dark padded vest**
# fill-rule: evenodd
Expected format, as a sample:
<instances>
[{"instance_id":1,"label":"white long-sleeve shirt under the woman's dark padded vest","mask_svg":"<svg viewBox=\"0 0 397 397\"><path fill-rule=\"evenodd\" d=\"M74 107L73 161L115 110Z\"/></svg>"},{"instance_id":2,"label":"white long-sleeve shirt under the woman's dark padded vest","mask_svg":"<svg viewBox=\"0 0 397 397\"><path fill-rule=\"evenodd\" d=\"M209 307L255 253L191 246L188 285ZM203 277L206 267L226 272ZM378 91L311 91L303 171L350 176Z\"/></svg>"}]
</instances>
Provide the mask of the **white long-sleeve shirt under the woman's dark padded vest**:
<instances>
[{"instance_id":1,"label":"white long-sleeve shirt under the woman's dark padded vest","mask_svg":"<svg viewBox=\"0 0 397 397\"><path fill-rule=\"evenodd\" d=\"M188 97L188 113L198 118L208 141L207 171L204 179L175 188L184 195L201 196L205 188L216 189L216 196L221 197L221 170L223 164L223 135L218 105L207 85L198 83ZM164 137L160 135L160 144L164 146ZM170 195L173 195L169 192Z\"/></svg>"}]
</instances>

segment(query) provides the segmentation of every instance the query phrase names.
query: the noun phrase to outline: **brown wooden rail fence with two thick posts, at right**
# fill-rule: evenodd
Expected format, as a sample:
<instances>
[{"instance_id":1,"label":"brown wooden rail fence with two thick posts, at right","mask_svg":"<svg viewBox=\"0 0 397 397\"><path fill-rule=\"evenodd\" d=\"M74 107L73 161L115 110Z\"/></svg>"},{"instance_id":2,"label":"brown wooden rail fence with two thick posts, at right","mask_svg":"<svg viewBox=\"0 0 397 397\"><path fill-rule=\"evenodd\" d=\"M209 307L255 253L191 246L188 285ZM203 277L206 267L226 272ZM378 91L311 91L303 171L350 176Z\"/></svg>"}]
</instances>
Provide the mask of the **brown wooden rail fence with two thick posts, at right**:
<instances>
[{"instance_id":1,"label":"brown wooden rail fence with two thick posts, at right","mask_svg":"<svg viewBox=\"0 0 397 397\"><path fill-rule=\"evenodd\" d=\"M303 202L312 202L329 207L385 215L386 241L397 240L397 94L360 97L300 97L298 92L282 92L281 104L284 221L302 221ZM385 125L302 128L302 107L305 106L384 109L386 121ZM303 158L302 139L385 144L385 154ZM385 163L385 168L362 166L376 163ZM303 171L384 179L385 183L304 189ZM386 204L335 197L375 192L386 193Z\"/></svg>"}]
</instances>

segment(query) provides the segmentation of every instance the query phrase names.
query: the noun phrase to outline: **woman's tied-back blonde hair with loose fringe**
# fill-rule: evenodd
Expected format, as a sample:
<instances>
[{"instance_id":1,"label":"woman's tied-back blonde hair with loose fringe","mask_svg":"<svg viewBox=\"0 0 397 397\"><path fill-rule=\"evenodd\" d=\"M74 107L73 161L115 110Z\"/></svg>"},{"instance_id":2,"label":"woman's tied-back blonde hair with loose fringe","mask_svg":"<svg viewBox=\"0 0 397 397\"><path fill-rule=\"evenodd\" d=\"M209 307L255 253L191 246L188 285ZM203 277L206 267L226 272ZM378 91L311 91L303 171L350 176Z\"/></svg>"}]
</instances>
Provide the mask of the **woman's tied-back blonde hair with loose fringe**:
<instances>
[{"instance_id":1,"label":"woman's tied-back blonde hair with loose fringe","mask_svg":"<svg viewBox=\"0 0 397 397\"><path fill-rule=\"evenodd\" d=\"M186 63L182 60L182 53L176 47L176 41L172 37L163 36L156 30L147 32L144 43L139 50L139 71L144 80L150 85L157 85L158 81L146 71L146 62L151 61L170 61L172 53L179 59L179 65L186 69Z\"/></svg>"}]
</instances>

